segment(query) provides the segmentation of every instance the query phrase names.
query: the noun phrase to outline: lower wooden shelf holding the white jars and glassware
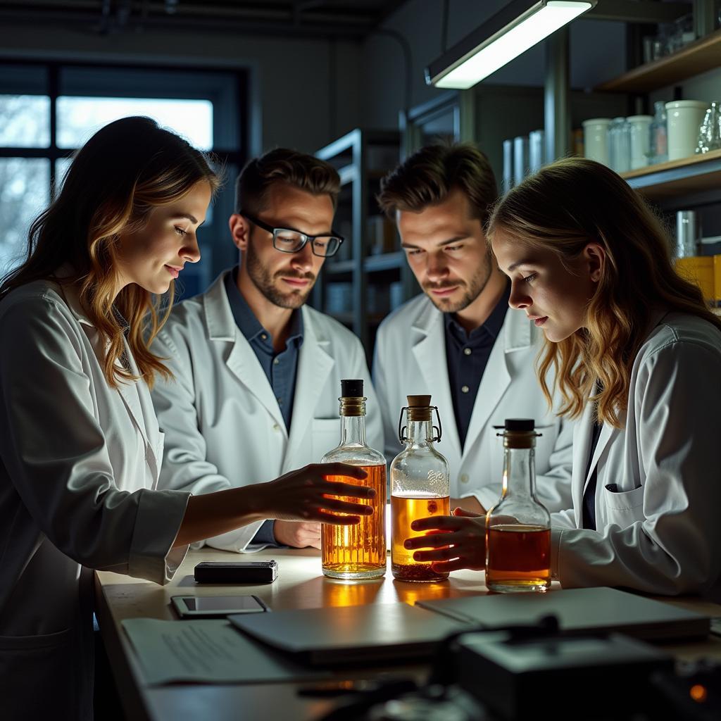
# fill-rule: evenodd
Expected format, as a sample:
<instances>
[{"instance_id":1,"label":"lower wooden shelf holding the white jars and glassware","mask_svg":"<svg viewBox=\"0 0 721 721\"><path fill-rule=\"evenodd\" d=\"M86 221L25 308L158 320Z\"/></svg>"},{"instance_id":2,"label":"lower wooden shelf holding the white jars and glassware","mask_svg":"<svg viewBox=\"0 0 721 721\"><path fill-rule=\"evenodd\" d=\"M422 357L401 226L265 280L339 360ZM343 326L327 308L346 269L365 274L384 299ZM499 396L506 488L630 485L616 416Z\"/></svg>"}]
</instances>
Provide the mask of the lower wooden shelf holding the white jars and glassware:
<instances>
[{"instance_id":1,"label":"lower wooden shelf holding the white jars and glassware","mask_svg":"<svg viewBox=\"0 0 721 721\"><path fill-rule=\"evenodd\" d=\"M621 177L650 200L715 190L721 187L721 150L631 170Z\"/></svg>"}]
</instances>

